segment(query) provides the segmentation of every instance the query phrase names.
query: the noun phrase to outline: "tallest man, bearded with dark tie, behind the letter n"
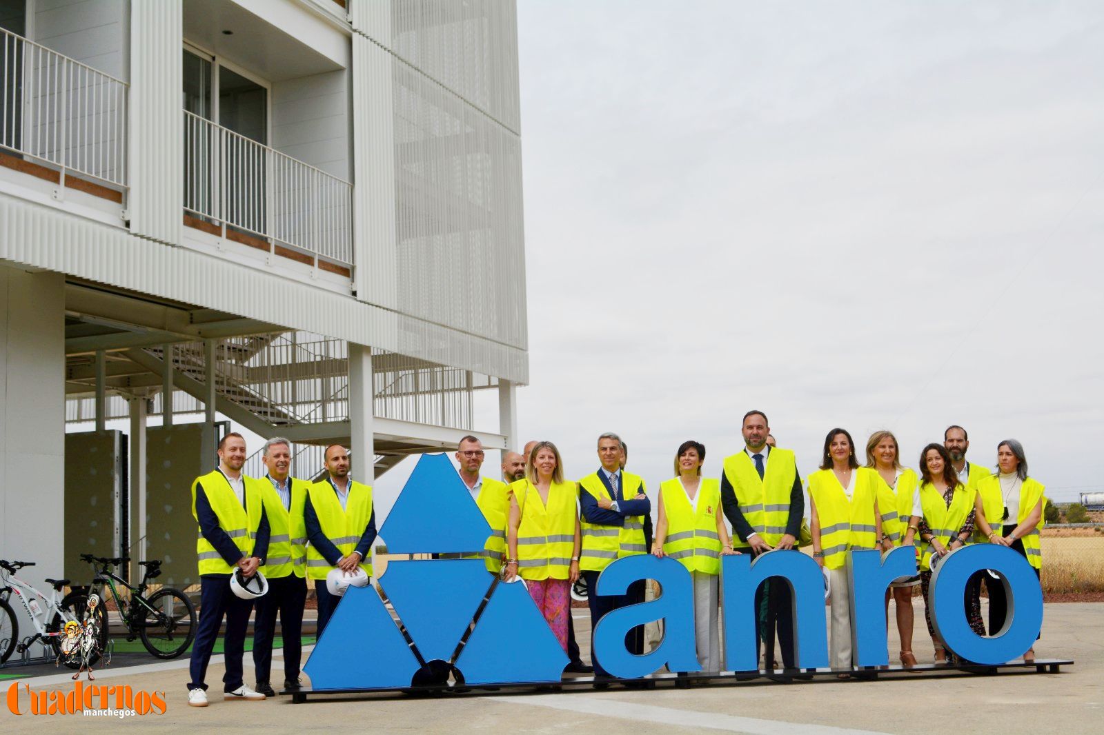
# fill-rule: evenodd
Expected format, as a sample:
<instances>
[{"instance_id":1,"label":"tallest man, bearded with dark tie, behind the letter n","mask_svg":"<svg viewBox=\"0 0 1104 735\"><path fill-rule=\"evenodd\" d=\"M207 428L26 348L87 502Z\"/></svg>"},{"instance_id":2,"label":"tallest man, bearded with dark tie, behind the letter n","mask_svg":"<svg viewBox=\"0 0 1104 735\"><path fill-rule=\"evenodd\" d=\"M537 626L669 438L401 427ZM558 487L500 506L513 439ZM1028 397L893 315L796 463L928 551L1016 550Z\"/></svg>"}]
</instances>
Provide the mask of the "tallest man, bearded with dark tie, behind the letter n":
<instances>
[{"instance_id":1,"label":"tallest man, bearded with dark tie, behind the letter n","mask_svg":"<svg viewBox=\"0 0 1104 735\"><path fill-rule=\"evenodd\" d=\"M744 450L724 460L721 477L721 507L732 524L733 546L753 556L772 548L795 548L805 514L805 494L794 452L766 443L771 427L762 411L744 414L741 433ZM789 586L765 583L755 593L756 610L762 609L764 588L766 615L757 637L766 641L767 665L774 660L777 631L783 665L793 669L794 607Z\"/></svg>"}]
</instances>

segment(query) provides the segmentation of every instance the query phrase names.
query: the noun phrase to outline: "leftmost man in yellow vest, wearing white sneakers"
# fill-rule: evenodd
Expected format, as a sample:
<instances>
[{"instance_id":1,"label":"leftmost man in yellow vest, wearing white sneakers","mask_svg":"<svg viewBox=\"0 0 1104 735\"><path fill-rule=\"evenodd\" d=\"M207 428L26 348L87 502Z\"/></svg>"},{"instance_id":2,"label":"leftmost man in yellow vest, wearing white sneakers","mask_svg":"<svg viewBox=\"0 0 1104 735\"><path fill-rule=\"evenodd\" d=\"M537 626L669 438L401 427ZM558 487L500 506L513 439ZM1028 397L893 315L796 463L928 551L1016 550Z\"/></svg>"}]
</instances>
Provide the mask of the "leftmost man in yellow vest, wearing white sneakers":
<instances>
[{"instance_id":1,"label":"leftmost man in yellow vest, wearing white sneakers","mask_svg":"<svg viewBox=\"0 0 1104 735\"><path fill-rule=\"evenodd\" d=\"M257 573L268 554L268 518L254 480L242 473L245 439L230 433L219 441L219 467L192 482L192 515L199 523L195 551L200 566L200 620L189 664L188 704L208 705L206 667L219 639L223 617L226 673L223 699L264 700L242 681L245 633L253 600L237 597L230 577L241 569L246 578Z\"/></svg>"}]
</instances>

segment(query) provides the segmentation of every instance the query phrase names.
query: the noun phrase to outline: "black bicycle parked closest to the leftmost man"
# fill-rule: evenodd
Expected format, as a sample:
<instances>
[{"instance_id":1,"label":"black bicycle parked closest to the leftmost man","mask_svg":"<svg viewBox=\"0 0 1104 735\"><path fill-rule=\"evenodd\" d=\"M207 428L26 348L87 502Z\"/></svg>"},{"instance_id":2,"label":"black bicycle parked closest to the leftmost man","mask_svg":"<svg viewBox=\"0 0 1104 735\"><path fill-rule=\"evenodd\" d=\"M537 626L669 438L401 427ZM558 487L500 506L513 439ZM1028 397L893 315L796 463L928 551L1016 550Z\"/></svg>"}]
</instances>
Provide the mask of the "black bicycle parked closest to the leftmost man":
<instances>
[{"instance_id":1,"label":"black bicycle parked closest to the leftmost man","mask_svg":"<svg viewBox=\"0 0 1104 735\"><path fill-rule=\"evenodd\" d=\"M88 595L98 594L99 598L106 601L103 585L107 585L107 588L112 590L112 599L115 600L119 617L127 627L128 641L140 638L146 650L159 659L174 659L192 645L197 628L195 606L192 600L188 599L184 593L172 587L161 587L146 597L146 587L149 580L156 579L161 574L160 560L138 563L145 567L145 574L137 587L127 584L125 579L112 572L113 566L130 561L126 556L105 558L92 554L81 554L81 561L92 564L92 568L96 573L88 593L82 594L81 599L75 603L75 607L82 614L87 606ZM130 590L129 605L126 599L119 597L116 584ZM105 607L105 605L100 605L98 609L104 610ZM103 615L106 617L106 611ZM107 650L107 626L102 625L99 630L102 648Z\"/></svg>"}]
</instances>

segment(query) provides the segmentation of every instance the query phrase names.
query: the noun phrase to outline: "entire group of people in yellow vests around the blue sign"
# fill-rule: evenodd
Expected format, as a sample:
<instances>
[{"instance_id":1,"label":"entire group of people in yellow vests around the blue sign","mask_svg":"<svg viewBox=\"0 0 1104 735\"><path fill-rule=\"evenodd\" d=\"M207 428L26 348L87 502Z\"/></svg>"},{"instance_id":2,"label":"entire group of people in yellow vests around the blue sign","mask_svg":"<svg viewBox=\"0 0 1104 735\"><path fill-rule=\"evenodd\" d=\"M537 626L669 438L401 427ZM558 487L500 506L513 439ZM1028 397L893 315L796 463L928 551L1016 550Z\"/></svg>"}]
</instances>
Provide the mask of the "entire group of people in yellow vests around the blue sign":
<instances>
[{"instance_id":1,"label":"entire group of people in yellow vests around the blue sign","mask_svg":"<svg viewBox=\"0 0 1104 735\"><path fill-rule=\"evenodd\" d=\"M747 412L741 432L744 448L724 459L721 478L704 478L705 447L688 440L673 458L673 477L658 493L628 472L628 447L619 436L598 437L599 468L581 480L567 480L559 449L551 441L530 441L522 454L502 457L502 479L481 473L485 451L479 439L458 443L458 473L491 529L485 547L466 556L485 560L505 583L524 580L534 605L571 663L567 672L596 674L604 688L609 674L594 656L583 662L571 616L571 586L582 576L592 630L611 610L644 601L639 580L618 596L597 595L598 575L614 561L633 554L669 556L692 575L696 641L703 671L721 671L719 575L721 556L811 546L830 578L830 658L841 678L853 665L849 610L849 552L891 551L915 546L919 575L894 580L887 590L896 608L903 667L916 664L912 651L913 588L920 586L934 660L948 653L932 626L927 607L933 566L968 543L998 543L1023 555L1036 574L1041 568L1039 529L1047 502L1044 488L1028 475L1023 447L1006 439L997 447L997 471L966 459L969 440L960 426L944 432L942 444L924 447L919 471L905 468L891 432L875 432L859 460L851 435L834 428L825 437L817 471L803 484L794 452L775 446L766 415ZM372 488L349 475L344 447L326 449L326 478L293 478L290 443L269 439L263 450L264 478L242 473L245 440L227 434L219 445L219 467L192 484L192 512L199 523L201 606L191 658L189 704L205 706L206 665L226 621L226 700L263 700L275 694L270 683L276 616L284 645L284 688L300 686L300 631L307 579L315 583L320 636L339 597L326 584L333 569L372 574L375 513ZM806 521L806 490L809 500ZM652 526L652 502L656 522ZM730 532L731 528L731 532ZM261 572L268 592L255 601L231 589L234 575L247 579ZM967 585L964 605L970 628L986 635L981 619L983 584L989 596L988 630L1005 625L1008 600L994 573L979 572ZM243 681L244 641L256 607L253 659L256 689ZM764 667L776 669L775 638L783 667L794 670L793 597L788 585L768 579L756 592L756 637ZM643 627L626 636L626 648L643 653ZM1029 649L1025 660L1033 659ZM790 674L775 677L788 680Z\"/></svg>"}]
</instances>

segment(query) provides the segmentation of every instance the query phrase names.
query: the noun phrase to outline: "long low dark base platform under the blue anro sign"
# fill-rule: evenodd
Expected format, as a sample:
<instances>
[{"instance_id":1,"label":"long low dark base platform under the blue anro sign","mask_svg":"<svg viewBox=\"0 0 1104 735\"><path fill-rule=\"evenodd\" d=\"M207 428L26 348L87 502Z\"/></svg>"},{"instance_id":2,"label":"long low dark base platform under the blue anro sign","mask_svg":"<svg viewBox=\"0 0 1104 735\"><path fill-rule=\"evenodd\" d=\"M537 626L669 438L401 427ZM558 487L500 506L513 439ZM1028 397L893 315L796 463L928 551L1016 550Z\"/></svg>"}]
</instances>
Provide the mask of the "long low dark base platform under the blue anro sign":
<instances>
[{"instance_id":1,"label":"long low dark base platform under the blue anro sign","mask_svg":"<svg viewBox=\"0 0 1104 735\"><path fill-rule=\"evenodd\" d=\"M850 674L852 681L869 681L880 678L910 679L919 677L946 677L957 673L996 674L996 673L1059 673L1060 667L1072 665L1069 659L1036 659L1031 663L1012 661L996 665L975 663L924 663L909 669L903 667L880 667L872 669L835 670L835 669L775 669L773 671L721 671L718 673L657 673L640 679L607 679L603 677L570 677L559 682L511 682L502 684L467 684L458 682L448 685L423 685L393 689L327 689L314 691L305 686L297 691L284 690L280 694L291 696L291 702L300 704L308 697L323 697L332 694L403 694L421 696L479 695L516 693L519 690L530 690L526 693L581 692L624 686L627 689L656 689L670 685L673 689L689 686L716 686L736 683L763 684L796 683L816 680L840 681L839 674ZM595 686L595 684L597 686Z\"/></svg>"}]
</instances>

